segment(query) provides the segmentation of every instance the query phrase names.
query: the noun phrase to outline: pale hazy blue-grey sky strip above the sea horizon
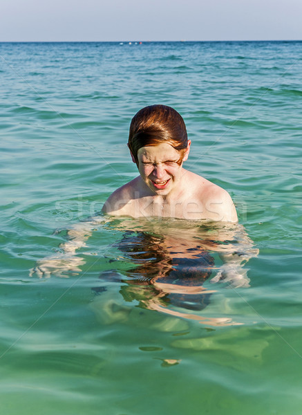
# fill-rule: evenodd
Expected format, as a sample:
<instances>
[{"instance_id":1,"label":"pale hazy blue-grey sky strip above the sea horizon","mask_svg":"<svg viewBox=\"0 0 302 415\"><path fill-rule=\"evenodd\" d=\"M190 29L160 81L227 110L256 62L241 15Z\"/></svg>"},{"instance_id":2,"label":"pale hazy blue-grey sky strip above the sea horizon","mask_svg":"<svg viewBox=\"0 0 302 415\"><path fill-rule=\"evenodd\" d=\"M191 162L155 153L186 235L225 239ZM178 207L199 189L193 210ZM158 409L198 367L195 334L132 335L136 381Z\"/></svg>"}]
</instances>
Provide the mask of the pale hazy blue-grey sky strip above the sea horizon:
<instances>
[{"instance_id":1,"label":"pale hazy blue-grey sky strip above the sea horizon","mask_svg":"<svg viewBox=\"0 0 302 415\"><path fill-rule=\"evenodd\" d=\"M0 42L300 39L302 0L0 0Z\"/></svg>"}]
</instances>

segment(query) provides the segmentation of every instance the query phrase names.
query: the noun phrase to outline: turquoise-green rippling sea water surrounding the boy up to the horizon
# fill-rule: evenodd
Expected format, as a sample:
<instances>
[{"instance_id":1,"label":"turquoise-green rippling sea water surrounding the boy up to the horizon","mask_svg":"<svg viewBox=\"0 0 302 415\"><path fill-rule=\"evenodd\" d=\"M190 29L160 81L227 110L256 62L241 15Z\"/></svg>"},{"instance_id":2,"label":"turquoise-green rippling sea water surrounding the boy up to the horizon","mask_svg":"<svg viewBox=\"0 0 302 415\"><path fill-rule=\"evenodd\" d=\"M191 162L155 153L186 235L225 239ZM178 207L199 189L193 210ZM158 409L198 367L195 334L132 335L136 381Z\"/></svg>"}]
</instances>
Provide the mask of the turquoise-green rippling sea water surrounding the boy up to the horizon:
<instances>
[{"instance_id":1,"label":"turquoise-green rippling sea water surrounding the boy up to the horizon","mask_svg":"<svg viewBox=\"0 0 302 415\"><path fill-rule=\"evenodd\" d=\"M0 44L1 413L301 414L301 53ZM153 103L240 226L98 215ZM217 281L232 247L250 259Z\"/></svg>"}]
</instances>

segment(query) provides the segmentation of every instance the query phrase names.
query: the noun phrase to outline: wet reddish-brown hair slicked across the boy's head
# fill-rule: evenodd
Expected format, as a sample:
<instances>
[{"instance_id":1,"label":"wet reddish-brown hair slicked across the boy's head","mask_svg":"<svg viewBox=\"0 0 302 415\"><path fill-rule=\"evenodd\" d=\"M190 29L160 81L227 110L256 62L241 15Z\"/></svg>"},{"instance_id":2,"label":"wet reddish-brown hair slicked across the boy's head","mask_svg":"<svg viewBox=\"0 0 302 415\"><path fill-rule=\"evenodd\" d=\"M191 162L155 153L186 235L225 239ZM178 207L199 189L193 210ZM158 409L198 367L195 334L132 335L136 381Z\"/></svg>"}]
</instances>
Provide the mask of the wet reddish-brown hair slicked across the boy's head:
<instances>
[{"instance_id":1,"label":"wet reddish-brown hair slicked across the boy's head","mask_svg":"<svg viewBox=\"0 0 302 415\"><path fill-rule=\"evenodd\" d=\"M182 116L167 105L149 105L140 109L132 118L128 141L136 164L139 149L162 142L180 151L177 162L180 165L188 146L187 129Z\"/></svg>"}]
</instances>

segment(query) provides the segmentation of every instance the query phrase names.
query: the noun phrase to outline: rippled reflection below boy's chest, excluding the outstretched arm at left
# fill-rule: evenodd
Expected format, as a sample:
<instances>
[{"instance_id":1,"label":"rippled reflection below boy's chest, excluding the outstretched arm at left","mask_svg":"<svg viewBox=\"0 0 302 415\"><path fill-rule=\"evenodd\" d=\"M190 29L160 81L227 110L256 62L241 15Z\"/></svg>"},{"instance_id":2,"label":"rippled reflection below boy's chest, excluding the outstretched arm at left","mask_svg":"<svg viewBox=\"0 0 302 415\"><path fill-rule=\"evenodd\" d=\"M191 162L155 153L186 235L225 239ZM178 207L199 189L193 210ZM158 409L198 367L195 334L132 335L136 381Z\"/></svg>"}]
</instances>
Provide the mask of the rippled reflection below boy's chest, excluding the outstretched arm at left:
<instances>
[{"instance_id":1,"label":"rippled reflection below boy's chest, excluding the outstretched arm at left","mask_svg":"<svg viewBox=\"0 0 302 415\"><path fill-rule=\"evenodd\" d=\"M113 247L121 255L110 260L112 268L102 273L100 279L122 283L120 294L124 300L135 302L140 308L205 324L238 324L227 317L205 318L190 311L202 311L209 304L215 290L209 290L203 284L214 275L215 282L226 280L240 282L238 286L248 286L249 280L242 265L251 254L252 243L243 228L234 224L220 225L220 228L217 225L200 227L196 223L190 226L185 221L175 221L171 228L171 220L166 223L159 221L162 220L155 220L152 224L141 221L139 225L136 223L136 230L127 230L129 225L135 228L134 221L117 225L124 232ZM242 250L243 241L239 243L238 234L245 239L245 250ZM128 263L129 267L117 270L120 261ZM223 263L216 265L219 261ZM100 294L104 286L94 291Z\"/></svg>"}]
</instances>

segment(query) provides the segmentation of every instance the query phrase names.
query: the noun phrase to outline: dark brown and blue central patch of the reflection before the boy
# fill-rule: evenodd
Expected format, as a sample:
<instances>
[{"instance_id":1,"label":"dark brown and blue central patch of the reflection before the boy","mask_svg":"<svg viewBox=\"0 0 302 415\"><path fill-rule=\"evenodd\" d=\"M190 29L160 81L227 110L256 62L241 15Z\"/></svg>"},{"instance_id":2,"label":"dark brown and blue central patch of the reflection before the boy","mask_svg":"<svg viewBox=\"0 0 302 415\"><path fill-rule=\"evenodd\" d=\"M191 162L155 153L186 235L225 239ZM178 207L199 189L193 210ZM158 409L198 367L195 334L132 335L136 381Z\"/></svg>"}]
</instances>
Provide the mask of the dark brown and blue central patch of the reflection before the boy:
<instances>
[{"instance_id":1,"label":"dark brown and blue central patch of the reflection before the boy","mask_svg":"<svg viewBox=\"0 0 302 415\"><path fill-rule=\"evenodd\" d=\"M180 306L202 310L209 303L209 293L202 288L211 276L214 258L209 252L194 246L171 252L164 237L146 232L126 232L115 244L132 267L126 271L120 293L127 302L137 300L142 308ZM114 260L113 260L114 266ZM116 279L115 270L101 275Z\"/></svg>"}]
</instances>

